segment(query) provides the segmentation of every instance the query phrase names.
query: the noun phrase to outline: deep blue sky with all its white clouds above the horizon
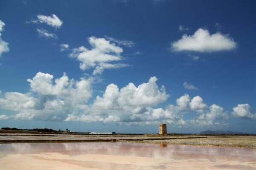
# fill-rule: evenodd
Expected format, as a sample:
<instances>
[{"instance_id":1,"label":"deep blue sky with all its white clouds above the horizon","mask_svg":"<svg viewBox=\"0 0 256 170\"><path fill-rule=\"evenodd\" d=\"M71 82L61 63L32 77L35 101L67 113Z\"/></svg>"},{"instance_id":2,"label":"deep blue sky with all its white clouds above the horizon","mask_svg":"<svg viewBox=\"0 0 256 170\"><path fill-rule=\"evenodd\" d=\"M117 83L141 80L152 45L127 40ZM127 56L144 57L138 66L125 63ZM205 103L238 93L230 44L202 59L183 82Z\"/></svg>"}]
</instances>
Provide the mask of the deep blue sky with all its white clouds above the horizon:
<instances>
[{"instance_id":1,"label":"deep blue sky with all its white clouds above the horizon","mask_svg":"<svg viewBox=\"0 0 256 170\"><path fill-rule=\"evenodd\" d=\"M253 0L1 0L0 127L256 133Z\"/></svg>"}]
</instances>

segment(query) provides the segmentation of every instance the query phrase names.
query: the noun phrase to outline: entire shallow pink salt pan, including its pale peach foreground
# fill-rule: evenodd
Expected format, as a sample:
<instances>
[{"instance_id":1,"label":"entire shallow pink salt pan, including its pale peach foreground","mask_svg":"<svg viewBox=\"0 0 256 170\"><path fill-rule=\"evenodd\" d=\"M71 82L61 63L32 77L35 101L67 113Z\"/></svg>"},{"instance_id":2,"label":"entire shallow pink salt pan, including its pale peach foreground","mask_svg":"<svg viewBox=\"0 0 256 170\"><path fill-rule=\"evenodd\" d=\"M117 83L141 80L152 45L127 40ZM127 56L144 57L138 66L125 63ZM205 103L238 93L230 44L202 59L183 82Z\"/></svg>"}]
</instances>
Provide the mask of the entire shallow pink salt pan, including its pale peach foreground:
<instances>
[{"instance_id":1,"label":"entire shallow pink salt pan, including its pale peach foreground","mask_svg":"<svg viewBox=\"0 0 256 170\"><path fill-rule=\"evenodd\" d=\"M256 149L131 142L0 144L0 170L255 170Z\"/></svg>"}]
</instances>

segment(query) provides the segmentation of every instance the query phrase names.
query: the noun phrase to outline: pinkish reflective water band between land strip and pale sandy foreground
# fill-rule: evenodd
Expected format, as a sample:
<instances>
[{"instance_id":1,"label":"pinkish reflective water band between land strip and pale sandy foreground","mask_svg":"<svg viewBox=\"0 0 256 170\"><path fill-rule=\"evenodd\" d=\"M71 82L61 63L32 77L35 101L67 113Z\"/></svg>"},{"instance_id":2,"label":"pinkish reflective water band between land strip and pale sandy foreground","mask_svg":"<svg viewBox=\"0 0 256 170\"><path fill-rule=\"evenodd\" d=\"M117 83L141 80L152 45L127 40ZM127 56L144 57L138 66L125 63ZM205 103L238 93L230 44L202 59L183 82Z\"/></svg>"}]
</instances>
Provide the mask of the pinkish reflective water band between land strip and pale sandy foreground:
<instances>
[{"instance_id":1,"label":"pinkish reflective water band between land strip and pale sandy foreground","mask_svg":"<svg viewBox=\"0 0 256 170\"><path fill-rule=\"evenodd\" d=\"M160 148L165 147L165 150ZM256 161L256 150L235 147L206 147L188 145L144 144L130 142L95 142L95 143L21 143L0 144L0 156L6 154L34 154L57 152L72 156L81 154L107 154L164 157L172 159L189 159L191 156L198 159L212 161L239 160Z\"/></svg>"}]
</instances>

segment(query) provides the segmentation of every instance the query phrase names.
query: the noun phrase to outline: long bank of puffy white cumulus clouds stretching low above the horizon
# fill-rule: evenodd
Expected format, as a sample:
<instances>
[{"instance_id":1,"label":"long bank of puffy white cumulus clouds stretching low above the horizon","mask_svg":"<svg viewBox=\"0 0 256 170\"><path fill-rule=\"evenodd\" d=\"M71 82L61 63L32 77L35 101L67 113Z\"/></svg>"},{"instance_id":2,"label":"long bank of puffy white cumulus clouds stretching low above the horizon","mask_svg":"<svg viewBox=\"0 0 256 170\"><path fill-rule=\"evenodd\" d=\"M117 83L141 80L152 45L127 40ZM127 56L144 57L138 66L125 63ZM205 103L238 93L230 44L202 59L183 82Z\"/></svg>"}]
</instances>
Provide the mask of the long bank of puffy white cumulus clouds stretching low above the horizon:
<instances>
[{"instance_id":1,"label":"long bank of puffy white cumulus clouds stretching low above the horizon","mask_svg":"<svg viewBox=\"0 0 256 170\"><path fill-rule=\"evenodd\" d=\"M54 79L53 75L38 72L32 79L29 93L6 92L0 95L0 108L15 114L0 115L0 119L26 119L43 121L78 121L117 123L119 125L156 125L160 122L176 127L200 125L210 127L227 125L216 122L227 119L227 112L218 105L207 107L200 96L192 99L188 94L176 99L176 105L163 104L169 98L164 86L157 85L157 78L150 77L148 82L136 86L130 82L119 88L109 84L101 96L93 96L92 85L95 78L69 79L67 74ZM248 105L234 112L250 115ZM191 114L191 119L185 119ZM247 116L253 118L252 116Z\"/></svg>"}]
</instances>

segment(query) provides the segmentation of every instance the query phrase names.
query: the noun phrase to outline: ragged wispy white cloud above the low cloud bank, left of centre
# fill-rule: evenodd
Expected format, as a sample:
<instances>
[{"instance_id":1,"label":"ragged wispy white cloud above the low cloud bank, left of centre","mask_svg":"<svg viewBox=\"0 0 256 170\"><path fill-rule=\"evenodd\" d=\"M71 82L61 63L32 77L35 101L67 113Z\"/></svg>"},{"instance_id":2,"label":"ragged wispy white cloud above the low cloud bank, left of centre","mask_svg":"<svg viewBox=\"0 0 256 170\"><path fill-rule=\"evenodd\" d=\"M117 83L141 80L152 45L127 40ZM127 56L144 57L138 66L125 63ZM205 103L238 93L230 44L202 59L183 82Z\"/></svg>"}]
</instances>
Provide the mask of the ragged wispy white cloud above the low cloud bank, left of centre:
<instances>
[{"instance_id":1,"label":"ragged wispy white cloud above the low cloud bank, left of centre","mask_svg":"<svg viewBox=\"0 0 256 170\"><path fill-rule=\"evenodd\" d=\"M70 57L75 57L80 61L80 69L87 70L94 68L93 75L102 74L105 69L122 68L128 66L123 63L113 63L123 59L120 54L123 49L111 43L105 38L90 37L89 43L92 46L88 50L84 46L74 48Z\"/></svg>"}]
</instances>

